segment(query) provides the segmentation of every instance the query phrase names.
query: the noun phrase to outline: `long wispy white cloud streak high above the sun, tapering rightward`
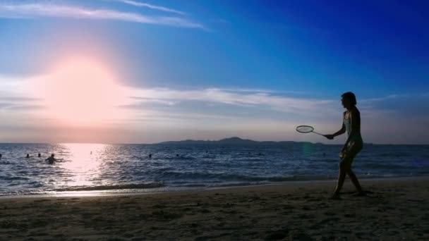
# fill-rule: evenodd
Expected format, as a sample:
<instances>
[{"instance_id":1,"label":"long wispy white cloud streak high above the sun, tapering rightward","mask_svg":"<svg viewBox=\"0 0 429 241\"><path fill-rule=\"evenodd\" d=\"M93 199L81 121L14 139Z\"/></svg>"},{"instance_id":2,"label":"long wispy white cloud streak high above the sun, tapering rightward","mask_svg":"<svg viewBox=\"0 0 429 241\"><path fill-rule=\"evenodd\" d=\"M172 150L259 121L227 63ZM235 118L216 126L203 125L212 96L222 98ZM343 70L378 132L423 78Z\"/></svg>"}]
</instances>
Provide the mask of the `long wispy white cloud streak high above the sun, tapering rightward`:
<instances>
[{"instance_id":1,"label":"long wispy white cloud streak high above the sun, tapering rightward","mask_svg":"<svg viewBox=\"0 0 429 241\"><path fill-rule=\"evenodd\" d=\"M186 18L170 16L144 16L139 13L116 11L107 8L90 9L80 6L56 4L3 4L0 3L0 18L80 18L94 20L121 20L133 23L153 25L169 25L174 27L189 27L205 29L201 23L195 23Z\"/></svg>"}]
</instances>

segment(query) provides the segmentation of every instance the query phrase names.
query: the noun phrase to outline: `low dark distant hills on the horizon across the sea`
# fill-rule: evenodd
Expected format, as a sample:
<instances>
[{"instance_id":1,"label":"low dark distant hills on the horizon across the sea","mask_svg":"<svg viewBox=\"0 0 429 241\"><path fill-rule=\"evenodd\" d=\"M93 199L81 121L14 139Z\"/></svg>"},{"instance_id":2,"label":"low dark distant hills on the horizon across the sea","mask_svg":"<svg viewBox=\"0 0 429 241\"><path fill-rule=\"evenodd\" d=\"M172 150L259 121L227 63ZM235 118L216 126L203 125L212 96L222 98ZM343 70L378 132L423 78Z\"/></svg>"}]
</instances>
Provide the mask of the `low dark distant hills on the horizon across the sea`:
<instances>
[{"instance_id":1,"label":"low dark distant hills on the horizon across the sea","mask_svg":"<svg viewBox=\"0 0 429 241\"><path fill-rule=\"evenodd\" d=\"M282 142L264 141L264 142L259 142L259 141L255 141L255 140L241 139L240 137L229 137L229 138L225 138L222 140L181 140L181 141L159 142L157 144L243 144L243 145L253 145L253 144L293 144L293 143L313 144L311 142L293 142L293 141L282 141Z\"/></svg>"}]
</instances>

